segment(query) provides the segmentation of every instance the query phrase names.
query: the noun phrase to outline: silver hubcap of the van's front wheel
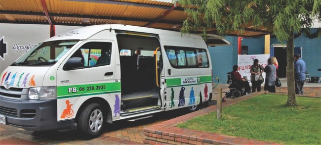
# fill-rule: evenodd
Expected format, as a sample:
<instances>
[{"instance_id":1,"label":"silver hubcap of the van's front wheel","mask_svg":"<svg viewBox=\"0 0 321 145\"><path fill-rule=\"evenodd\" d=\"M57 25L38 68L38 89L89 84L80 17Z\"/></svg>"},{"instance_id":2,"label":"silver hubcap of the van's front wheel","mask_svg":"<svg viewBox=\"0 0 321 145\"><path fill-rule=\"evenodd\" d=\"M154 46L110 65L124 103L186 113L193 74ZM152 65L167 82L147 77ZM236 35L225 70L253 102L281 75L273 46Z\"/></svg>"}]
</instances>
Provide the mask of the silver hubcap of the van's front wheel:
<instances>
[{"instance_id":1,"label":"silver hubcap of the van's front wheel","mask_svg":"<svg viewBox=\"0 0 321 145\"><path fill-rule=\"evenodd\" d=\"M101 127L103 125L103 113L96 109L93 112L91 112L90 118L89 118L89 127L92 132L98 132L101 130Z\"/></svg>"}]
</instances>

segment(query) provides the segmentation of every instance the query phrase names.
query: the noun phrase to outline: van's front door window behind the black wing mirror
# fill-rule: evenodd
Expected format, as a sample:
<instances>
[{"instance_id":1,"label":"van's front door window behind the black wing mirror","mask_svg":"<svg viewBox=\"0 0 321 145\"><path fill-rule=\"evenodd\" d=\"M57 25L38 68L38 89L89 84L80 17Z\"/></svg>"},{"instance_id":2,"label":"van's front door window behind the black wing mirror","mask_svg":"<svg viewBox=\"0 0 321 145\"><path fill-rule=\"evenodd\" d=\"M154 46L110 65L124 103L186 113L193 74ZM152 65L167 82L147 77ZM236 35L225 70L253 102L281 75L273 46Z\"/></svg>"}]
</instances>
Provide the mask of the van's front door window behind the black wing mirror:
<instances>
[{"instance_id":1,"label":"van's front door window behind the black wing mirror","mask_svg":"<svg viewBox=\"0 0 321 145\"><path fill-rule=\"evenodd\" d=\"M112 43L89 42L82 45L71 57L80 57L84 67L109 65Z\"/></svg>"}]
</instances>

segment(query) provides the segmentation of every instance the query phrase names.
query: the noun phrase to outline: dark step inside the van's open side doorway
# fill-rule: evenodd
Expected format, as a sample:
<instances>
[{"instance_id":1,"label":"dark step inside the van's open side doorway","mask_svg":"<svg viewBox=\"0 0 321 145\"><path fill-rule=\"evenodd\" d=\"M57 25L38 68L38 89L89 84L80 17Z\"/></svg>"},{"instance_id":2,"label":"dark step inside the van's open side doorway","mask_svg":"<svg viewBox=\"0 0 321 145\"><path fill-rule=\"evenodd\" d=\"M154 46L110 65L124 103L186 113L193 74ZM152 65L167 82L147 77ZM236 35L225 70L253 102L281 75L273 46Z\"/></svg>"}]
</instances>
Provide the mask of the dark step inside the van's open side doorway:
<instances>
[{"instance_id":1,"label":"dark step inside the van's open side doorway","mask_svg":"<svg viewBox=\"0 0 321 145\"><path fill-rule=\"evenodd\" d=\"M132 108L158 105L159 97L136 97L135 99L122 99L120 109L128 110Z\"/></svg>"}]
</instances>

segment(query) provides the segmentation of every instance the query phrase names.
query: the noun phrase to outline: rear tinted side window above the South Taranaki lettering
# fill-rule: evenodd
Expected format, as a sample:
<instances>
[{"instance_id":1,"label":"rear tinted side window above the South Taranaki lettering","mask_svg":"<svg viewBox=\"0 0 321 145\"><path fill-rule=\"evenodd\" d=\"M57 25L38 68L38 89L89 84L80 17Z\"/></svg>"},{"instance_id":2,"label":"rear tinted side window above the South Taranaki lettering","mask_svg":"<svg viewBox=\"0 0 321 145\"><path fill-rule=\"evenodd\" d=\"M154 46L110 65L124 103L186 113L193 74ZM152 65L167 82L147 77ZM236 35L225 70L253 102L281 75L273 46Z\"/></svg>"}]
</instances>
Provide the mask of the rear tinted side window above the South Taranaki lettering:
<instances>
[{"instance_id":1,"label":"rear tinted side window above the South Taranaki lettering","mask_svg":"<svg viewBox=\"0 0 321 145\"><path fill-rule=\"evenodd\" d=\"M209 67L206 49L164 46L168 60L174 68Z\"/></svg>"}]
</instances>

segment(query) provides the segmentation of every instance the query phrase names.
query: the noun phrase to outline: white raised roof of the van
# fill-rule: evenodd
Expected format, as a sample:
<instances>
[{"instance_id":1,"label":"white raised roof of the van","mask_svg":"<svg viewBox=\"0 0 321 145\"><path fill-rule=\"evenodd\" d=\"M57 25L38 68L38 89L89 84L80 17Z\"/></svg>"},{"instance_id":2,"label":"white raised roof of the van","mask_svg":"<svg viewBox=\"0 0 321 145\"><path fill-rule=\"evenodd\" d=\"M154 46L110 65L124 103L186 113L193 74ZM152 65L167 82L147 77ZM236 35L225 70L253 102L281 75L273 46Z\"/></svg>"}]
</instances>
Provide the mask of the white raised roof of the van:
<instances>
[{"instance_id":1,"label":"white raised roof of the van","mask_svg":"<svg viewBox=\"0 0 321 145\"><path fill-rule=\"evenodd\" d=\"M92 26L86 26L86 27L74 29L74 30L56 35L54 37L51 37L50 39L45 40L44 42L55 41L55 40L66 40L66 39L85 40L100 31L110 30L110 29L139 32L139 33L149 33L149 34L181 36L180 32L175 32L175 31L168 31L168 30L161 30L161 29L154 29L154 28L147 28L147 27L138 27L138 26L131 26L131 25L105 24L105 25L92 25ZM183 35L182 37L202 39L200 35L195 35L195 34Z\"/></svg>"}]
</instances>

